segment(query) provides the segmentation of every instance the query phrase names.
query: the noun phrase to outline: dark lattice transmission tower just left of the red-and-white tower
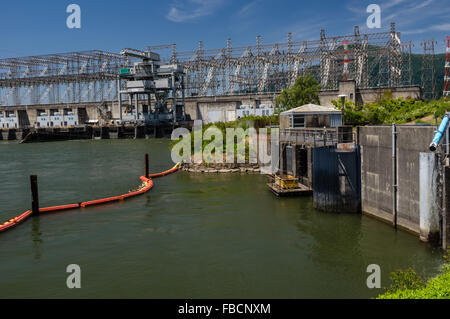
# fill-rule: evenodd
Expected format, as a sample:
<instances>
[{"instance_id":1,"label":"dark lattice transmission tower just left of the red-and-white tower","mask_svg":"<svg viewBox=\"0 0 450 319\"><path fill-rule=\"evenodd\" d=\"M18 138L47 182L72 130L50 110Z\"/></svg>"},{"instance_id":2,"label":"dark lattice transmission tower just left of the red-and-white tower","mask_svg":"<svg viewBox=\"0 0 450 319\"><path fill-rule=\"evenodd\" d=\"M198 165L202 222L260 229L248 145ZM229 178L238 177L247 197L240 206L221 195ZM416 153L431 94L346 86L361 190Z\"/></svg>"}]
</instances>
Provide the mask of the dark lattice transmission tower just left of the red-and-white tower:
<instances>
[{"instance_id":1,"label":"dark lattice transmission tower just left of the red-and-white tower","mask_svg":"<svg viewBox=\"0 0 450 319\"><path fill-rule=\"evenodd\" d=\"M426 100L436 98L436 66L434 46L436 42L434 39L424 40L423 45L423 60L422 60L422 88L423 97Z\"/></svg>"}]
</instances>

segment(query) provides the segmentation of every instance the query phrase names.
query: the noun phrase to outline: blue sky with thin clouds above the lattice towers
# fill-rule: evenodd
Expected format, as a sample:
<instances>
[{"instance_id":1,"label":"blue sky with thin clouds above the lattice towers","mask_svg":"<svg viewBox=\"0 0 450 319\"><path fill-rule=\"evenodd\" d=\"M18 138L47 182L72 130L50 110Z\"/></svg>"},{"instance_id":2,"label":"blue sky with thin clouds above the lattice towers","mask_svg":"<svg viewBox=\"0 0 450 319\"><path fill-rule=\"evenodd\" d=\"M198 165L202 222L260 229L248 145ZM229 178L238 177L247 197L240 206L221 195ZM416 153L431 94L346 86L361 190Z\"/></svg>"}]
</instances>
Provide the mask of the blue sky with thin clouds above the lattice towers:
<instances>
[{"instance_id":1,"label":"blue sky with thin clouds above the lattice towers","mask_svg":"<svg viewBox=\"0 0 450 319\"><path fill-rule=\"evenodd\" d=\"M68 29L66 7L82 10L82 28ZM381 6L382 29L368 29L369 4ZM40 0L5 1L0 11L0 57L27 56L101 49L119 52L124 47L177 43L191 50L202 40L205 48L218 48L232 38L233 45L379 32L397 23L402 41L413 41L420 51L425 38L434 37L444 52L450 35L449 0Z\"/></svg>"}]
</instances>

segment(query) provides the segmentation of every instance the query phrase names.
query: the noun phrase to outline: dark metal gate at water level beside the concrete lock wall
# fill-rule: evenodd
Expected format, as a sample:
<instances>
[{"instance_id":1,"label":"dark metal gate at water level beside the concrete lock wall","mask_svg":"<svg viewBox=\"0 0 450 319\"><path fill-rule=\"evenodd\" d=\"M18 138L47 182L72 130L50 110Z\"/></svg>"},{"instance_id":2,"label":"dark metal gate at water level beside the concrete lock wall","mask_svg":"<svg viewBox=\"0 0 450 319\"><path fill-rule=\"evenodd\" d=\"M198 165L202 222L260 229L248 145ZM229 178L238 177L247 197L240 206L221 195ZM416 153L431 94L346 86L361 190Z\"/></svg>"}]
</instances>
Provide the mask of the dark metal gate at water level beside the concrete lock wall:
<instances>
[{"instance_id":1,"label":"dark metal gate at water level beside the concrete lock wall","mask_svg":"<svg viewBox=\"0 0 450 319\"><path fill-rule=\"evenodd\" d=\"M361 211L361 156L359 148L341 151L313 149L314 207L330 212Z\"/></svg>"}]
</instances>

